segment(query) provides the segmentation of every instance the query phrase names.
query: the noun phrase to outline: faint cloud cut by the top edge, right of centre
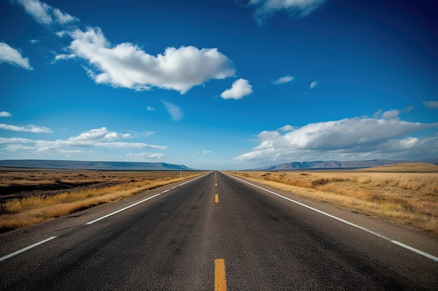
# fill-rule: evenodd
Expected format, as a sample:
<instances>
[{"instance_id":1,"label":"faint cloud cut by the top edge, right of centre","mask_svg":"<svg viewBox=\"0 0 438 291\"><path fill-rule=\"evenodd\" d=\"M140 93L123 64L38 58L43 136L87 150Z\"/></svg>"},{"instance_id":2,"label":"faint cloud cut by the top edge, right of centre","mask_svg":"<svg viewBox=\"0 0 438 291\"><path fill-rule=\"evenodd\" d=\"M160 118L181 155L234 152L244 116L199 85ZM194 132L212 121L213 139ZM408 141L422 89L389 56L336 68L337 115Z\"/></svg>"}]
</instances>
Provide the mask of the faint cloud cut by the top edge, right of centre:
<instances>
[{"instance_id":1,"label":"faint cloud cut by the top edge, right of centre","mask_svg":"<svg viewBox=\"0 0 438 291\"><path fill-rule=\"evenodd\" d=\"M292 17L306 17L325 0L250 0L248 6L255 7L254 17L259 24L278 13L285 11Z\"/></svg>"}]
</instances>

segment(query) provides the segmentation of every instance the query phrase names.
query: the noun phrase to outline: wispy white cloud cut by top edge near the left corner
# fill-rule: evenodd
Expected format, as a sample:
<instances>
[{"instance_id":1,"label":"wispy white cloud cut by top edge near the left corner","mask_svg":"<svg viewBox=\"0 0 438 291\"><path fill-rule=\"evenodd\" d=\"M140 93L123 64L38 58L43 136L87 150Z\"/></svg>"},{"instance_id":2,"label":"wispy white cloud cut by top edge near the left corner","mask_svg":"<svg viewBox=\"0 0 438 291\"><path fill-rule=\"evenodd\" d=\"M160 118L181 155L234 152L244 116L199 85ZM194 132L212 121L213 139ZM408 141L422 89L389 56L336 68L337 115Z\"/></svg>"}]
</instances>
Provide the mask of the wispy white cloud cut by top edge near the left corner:
<instances>
[{"instance_id":1,"label":"wispy white cloud cut by top edge near the left corner","mask_svg":"<svg viewBox=\"0 0 438 291\"><path fill-rule=\"evenodd\" d=\"M52 8L47 3L38 0L16 0L24 10L41 24L66 24L77 21L78 18L64 13L58 8Z\"/></svg>"}]
</instances>

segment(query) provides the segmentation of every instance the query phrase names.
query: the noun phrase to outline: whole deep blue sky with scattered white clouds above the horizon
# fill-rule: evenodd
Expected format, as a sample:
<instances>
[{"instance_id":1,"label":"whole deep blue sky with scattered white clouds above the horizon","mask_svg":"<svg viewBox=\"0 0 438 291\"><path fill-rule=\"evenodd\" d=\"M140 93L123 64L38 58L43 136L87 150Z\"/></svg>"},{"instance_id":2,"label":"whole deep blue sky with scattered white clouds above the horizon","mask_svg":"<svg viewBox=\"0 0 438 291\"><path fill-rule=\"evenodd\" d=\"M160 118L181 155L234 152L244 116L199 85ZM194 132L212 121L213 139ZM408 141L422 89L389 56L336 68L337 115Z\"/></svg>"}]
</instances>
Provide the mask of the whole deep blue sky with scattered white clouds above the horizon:
<instances>
[{"instance_id":1,"label":"whole deep blue sky with scattered white clouds above the horizon","mask_svg":"<svg viewBox=\"0 0 438 291\"><path fill-rule=\"evenodd\" d=\"M434 1L0 3L0 159L438 158Z\"/></svg>"}]
</instances>

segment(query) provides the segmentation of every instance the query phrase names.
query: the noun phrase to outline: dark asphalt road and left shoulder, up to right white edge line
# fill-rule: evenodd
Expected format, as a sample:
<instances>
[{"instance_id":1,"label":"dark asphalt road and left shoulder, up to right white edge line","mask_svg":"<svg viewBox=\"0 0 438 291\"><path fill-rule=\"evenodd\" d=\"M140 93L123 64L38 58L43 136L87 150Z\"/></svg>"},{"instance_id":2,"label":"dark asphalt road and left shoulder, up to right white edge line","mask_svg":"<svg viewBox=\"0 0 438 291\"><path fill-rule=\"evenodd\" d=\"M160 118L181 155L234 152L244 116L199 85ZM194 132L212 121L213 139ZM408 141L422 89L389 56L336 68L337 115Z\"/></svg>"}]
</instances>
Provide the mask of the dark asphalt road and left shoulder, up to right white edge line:
<instances>
[{"instance_id":1,"label":"dark asphalt road and left shoulder, up to right white edge line","mask_svg":"<svg viewBox=\"0 0 438 291\"><path fill-rule=\"evenodd\" d=\"M438 289L437 261L220 172L175 186L1 234L0 290Z\"/></svg>"}]
</instances>

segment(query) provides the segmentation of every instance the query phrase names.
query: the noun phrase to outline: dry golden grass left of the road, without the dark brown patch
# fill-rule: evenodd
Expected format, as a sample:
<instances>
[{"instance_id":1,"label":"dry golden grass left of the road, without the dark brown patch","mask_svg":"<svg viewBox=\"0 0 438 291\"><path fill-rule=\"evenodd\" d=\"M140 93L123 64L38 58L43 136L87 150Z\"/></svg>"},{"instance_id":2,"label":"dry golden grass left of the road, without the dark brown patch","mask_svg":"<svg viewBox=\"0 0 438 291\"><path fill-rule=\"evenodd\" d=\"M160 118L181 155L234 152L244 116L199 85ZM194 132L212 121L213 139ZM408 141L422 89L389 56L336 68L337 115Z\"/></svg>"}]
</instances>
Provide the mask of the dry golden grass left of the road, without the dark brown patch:
<instances>
[{"instance_id":1,"label":"dry golden grass left of the road, without the dark brown patch","mask_svg":"<svg viewBox=\"0 0 438 291\"><path fill-rule=\"evenodd\" d=\"M53 218L66 216L73 212L94 207L99 204L115 202L137 193L171 184L180 180L179 172L89 172L84 177L83 172L52 173L46 180L29 179L24 172L20 175L12 173L9 177L23 177L25 183L57 183L59 175L69 183L96 182L100 178L124 181L113 186L86 188L83 190L66 191L55 195L28 195L3 202L0 212L0 232L14 230L19 227L34 225ZM8 176L2 173L3 177ZM45 176L47 172L27 173L27 176ZM201 172L184 172L183 178L196 177ZM94 176L94 179L90 176ZM105 177L104 177L105 176ZM109 177L108 177L109 176ZM99 178L100 177L100 178ZM4 181L4 180L3 180ZM99 180L100 181L100 180Z\"/></svg>"}]
</instances>

